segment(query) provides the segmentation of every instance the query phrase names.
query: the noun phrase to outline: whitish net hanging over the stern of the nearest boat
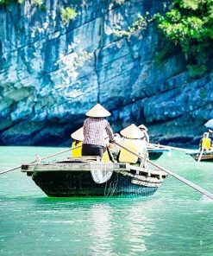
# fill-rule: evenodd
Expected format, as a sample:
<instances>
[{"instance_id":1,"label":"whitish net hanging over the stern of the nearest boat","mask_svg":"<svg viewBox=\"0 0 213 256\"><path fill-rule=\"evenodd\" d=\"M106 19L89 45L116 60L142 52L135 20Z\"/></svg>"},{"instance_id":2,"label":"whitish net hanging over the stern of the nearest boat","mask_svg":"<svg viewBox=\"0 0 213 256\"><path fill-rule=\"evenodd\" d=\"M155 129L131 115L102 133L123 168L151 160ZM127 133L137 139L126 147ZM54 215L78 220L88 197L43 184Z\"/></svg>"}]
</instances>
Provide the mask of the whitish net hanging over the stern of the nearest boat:
<instances>
[{"instance_id":1,"label":"whitish net hanging over the stern of the nearest boat","mask_svg":"<svg viewBox=\"0 0 213 256\"><path fill-rule=\"evenodd\" d=\"M91 163L91 177L101 184L110 180L113 173L113 163Z\"/></svg>"}]
</instances>

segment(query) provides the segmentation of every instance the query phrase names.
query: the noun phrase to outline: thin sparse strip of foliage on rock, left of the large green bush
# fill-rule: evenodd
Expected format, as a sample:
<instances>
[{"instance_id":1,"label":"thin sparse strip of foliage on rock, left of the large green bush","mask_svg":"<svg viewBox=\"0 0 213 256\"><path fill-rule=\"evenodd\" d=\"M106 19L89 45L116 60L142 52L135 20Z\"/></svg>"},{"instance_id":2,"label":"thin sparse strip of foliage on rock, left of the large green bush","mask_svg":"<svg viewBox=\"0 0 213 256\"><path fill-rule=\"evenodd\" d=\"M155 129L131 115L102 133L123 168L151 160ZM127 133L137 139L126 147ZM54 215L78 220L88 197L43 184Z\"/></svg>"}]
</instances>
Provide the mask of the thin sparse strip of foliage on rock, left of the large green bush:
<instances>
[{"instance_id":1,"label":"thin sparse strip of foliage on rock, left of the large green bush","mask_svg":"<svg viewBox=\"0 0 213 256\"><path fill-rule=\"evenodd\" d=\"M147 18L138 15L138 19L133 22L131 27L128 27L127 30L114 30L113 34L116 35L117 37L130 37L133 35L136 31L142 30L142 29L147 29Z\"/></svg>"}]
</instances>

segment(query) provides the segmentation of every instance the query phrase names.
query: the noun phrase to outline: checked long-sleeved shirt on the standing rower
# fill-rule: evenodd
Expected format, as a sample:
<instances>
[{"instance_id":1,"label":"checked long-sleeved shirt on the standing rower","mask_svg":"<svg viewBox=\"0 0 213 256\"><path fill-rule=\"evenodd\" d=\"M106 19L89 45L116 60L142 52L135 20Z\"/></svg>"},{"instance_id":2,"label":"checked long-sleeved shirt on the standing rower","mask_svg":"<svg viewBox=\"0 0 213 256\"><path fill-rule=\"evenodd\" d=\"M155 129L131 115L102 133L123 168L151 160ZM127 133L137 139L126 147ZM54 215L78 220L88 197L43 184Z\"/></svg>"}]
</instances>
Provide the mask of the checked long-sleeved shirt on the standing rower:
<instances>
[{"instance_id":1,"label":"checked long-sleeved shirt on the standing rower","mask_svg":"<svg viewBox=\"0 0 213 256\"><path fill-rule=\"evenodd\" d=\"M106 146L105 138L113 140L113 132L109 122L104 118L86 118L84 125L84 142L83 144L94 144Z\"/></svg>"}]
</instances>

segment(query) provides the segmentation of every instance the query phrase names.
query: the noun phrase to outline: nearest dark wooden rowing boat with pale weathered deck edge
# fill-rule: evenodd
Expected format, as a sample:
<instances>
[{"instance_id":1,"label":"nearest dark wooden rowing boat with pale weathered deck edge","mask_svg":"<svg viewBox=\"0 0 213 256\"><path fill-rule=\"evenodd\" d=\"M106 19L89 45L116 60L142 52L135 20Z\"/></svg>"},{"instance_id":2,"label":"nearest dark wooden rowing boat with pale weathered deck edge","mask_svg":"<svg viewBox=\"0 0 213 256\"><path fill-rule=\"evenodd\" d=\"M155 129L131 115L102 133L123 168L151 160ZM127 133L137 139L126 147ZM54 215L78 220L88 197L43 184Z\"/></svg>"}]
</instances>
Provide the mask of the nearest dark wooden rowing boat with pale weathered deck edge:
<instances>
[{"instance_id":1,"label":"nearest dark wooden rowing boat with pale weathered deck edge","mask_svg":"<svg viewBox=\"0 0 213 256\"><path fill-rule=\"evenodd\" d=\"M110 180L97 183L93 170L111 171ZM103 163L99 157L69 157L52 163L22 164L48 196L146 196L160 187L166 172L141 168L129 163Z\"/></svg>"}]
</instances>

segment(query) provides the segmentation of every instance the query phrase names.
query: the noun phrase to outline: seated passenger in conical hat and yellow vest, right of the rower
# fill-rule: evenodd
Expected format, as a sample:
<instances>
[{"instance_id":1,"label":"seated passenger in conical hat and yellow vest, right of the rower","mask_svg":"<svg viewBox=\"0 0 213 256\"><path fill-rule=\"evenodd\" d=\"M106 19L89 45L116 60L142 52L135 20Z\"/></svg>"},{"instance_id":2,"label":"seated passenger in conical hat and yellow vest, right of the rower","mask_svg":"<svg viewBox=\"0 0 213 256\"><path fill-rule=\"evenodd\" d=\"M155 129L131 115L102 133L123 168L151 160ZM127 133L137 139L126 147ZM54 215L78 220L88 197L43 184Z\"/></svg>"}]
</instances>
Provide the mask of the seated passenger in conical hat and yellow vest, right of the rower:
<instances>
[{"instance_id":1,"label":"seated passenger in conical hat and yellow vest, right of the rower","mask_svg":"<svg viewBox=\"0 0 213 256\"><path fill-rule=\"evenodd\" d=\"M124 137L122 146L145 159L147 156L147 142L145 139L141 139L144 137L144 133L134 124L128 125L128 127L120 131L120 133ZM141 159L127 150L121 149L119 162L141 163Z\"/></svg>"}]
</instances>

